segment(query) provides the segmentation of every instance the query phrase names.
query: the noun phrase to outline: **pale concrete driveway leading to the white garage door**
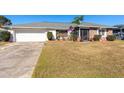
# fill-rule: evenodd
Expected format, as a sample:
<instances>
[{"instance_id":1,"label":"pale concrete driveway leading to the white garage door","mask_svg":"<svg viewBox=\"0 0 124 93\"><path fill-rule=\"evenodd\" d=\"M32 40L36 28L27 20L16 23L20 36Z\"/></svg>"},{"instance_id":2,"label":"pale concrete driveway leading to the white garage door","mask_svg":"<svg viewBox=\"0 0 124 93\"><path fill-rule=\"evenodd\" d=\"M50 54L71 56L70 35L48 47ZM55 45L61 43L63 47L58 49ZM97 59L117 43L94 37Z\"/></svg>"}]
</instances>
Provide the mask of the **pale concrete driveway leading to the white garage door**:
<instances>
[{"instance_id":1,"label":"pale concrete driveway leading to the white garage door","mask_svg":"<svg viewBox=\"0 0 124 93\"><path fill-rule=\"evenodd\" d=\"M31 77L43 43L13 43L0 47L0 77Z\"/></svg>"}]
</instances>

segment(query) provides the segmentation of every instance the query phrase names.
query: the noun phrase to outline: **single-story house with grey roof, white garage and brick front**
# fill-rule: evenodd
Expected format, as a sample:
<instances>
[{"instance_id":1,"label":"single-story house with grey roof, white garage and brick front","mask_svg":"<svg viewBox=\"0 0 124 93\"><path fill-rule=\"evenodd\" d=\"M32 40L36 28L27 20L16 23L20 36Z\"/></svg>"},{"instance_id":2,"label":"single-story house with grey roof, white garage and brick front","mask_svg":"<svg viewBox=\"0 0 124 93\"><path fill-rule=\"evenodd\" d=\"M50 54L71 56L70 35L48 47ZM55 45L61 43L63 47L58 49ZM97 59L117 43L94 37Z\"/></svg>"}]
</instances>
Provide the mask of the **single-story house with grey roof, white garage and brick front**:
<instances>
[{"instance_id":1,"label":"single-story house with grey roof, white garage and brick front","mask_svg":"<svg viewBox=\"0 0 124 93\"><path fill-rule=\"evenodd\" d=\"M68 36L68 29L70 26L74 29L78 28L78 37L80 37L82 41L91 40L94 35L102 35L102 37L107 37L107 35L113 34L113 29L115 28L87 22L83 22L81 25L59 22L38 22L4 27L11 28L11 30L8 30L12 34L11 41L43 42L48 40L47 32L52 32L54 39L57 38L58 33L64 34L65 37Z\"/></svg>"}]
</instances>

